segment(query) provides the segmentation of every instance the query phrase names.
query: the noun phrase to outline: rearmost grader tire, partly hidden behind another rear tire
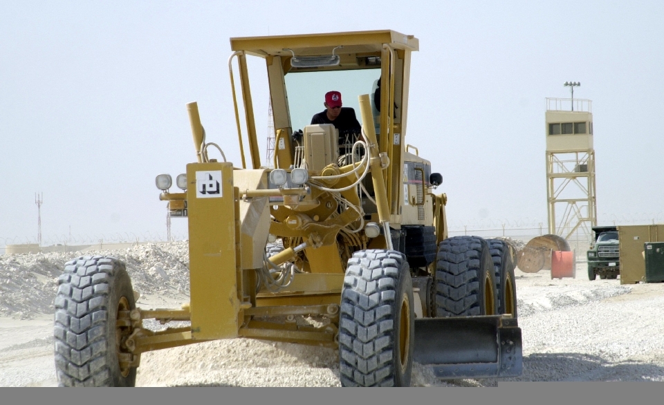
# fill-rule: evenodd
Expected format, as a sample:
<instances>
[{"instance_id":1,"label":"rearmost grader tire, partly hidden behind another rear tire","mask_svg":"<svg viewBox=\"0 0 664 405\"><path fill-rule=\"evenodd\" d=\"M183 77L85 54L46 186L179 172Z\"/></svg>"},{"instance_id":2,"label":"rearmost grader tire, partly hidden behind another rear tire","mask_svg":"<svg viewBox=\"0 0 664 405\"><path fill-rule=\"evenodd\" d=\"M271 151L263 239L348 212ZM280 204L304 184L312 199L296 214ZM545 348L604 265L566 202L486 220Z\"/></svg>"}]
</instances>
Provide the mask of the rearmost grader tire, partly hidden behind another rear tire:
<instances>
[{"instance_id":1,"label":"rearmost grader tire, partly hidden behind another rear tire","mask_svg":"<svg viewBox=\"0 0 664 405\"><path fill-rule=\"evenodd\" d=\"M498 313L517 317L517 285L514 278L514 263L510 245L501 239L487 239L493 260L496 290L498 292Z\"/></svg>"}]
</instances>

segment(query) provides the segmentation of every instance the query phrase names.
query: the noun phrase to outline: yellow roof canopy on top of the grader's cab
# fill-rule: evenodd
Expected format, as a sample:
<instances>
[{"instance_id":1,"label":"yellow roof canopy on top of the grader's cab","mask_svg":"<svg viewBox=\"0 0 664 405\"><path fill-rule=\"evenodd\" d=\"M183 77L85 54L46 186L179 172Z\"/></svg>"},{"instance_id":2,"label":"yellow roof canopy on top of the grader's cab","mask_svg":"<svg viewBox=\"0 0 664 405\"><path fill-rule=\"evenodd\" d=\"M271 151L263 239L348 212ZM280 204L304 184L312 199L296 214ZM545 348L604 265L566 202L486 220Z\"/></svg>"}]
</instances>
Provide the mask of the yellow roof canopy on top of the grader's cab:
<instances>
[{"instance_id":1,"label":"yellow roof canopy on top of the grader's cab","mask_svg":"<svg viewBox=\"0 0 664 405\"><path fill-rule=\"evenodd\" d=\"M282 35L270 37L237 37L230 39L230 48L259 57L293 55L331 55L332 50L343 46L336 53L356 56L380 55L382 44L400 50L418 50L419 41L413 35L392 30L331 32L327 34Z\"/></svg>"}]
</instances>

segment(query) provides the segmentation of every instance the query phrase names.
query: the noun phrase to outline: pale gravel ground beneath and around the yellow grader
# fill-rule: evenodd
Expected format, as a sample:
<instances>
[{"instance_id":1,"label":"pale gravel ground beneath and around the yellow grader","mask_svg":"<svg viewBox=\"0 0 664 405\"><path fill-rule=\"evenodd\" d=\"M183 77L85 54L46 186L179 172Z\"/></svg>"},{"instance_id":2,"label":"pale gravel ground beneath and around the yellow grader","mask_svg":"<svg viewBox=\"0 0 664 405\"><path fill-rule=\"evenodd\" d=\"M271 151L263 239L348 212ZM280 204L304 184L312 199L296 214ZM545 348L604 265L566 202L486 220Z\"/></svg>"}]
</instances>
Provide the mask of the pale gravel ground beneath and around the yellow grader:
<instances>
[{"instance_id":1,"label":"pale gravel ground beneath and around the yellow grader","mask_svg":"<svg viewBox=\"0 0 664 405\"><path fill-rule=\"evenodd\" d=\"M127 261L142 308L189 300L185 243L107 254ZM0 386L56 386L53 297L75 254L0 256ZM664 283L551 279L515 271L524 372L513 379L443 382L415 364L413 386L495 386L499 381L664 381ZM154 322L150 328L161 327ZM138 386L340 386L338 352L250 339L149 352Z\"/></svg>"}]
</instances>

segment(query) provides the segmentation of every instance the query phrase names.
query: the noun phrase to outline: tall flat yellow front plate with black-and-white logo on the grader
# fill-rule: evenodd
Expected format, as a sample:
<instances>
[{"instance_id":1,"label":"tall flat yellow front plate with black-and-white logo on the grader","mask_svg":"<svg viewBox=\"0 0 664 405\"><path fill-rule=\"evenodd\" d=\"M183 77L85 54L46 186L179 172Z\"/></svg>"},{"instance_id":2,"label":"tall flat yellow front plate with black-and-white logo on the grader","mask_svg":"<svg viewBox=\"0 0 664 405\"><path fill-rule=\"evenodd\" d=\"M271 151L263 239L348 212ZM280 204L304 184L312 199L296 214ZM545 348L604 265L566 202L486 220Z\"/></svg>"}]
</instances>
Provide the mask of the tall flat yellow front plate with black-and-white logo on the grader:
<instances>
[{"instance_id":1,"label":"tall flat yellow front plate with black-and-white logo on the grader","mask_svg":"<svg viewBox=\"0 0 664 405\"><path fill-rule=\"evenodd\" d=\"M198 173L198 178L197 178ZM221 175L216 194L202 194L203 182ZM208 178L212 176L212 180ZM219 177L217 177L219 178ZM187 164L192 339L237 337L237 223L232 163ZM206 191L207 192L207 191Z\"/></svg>"}]
</instances>

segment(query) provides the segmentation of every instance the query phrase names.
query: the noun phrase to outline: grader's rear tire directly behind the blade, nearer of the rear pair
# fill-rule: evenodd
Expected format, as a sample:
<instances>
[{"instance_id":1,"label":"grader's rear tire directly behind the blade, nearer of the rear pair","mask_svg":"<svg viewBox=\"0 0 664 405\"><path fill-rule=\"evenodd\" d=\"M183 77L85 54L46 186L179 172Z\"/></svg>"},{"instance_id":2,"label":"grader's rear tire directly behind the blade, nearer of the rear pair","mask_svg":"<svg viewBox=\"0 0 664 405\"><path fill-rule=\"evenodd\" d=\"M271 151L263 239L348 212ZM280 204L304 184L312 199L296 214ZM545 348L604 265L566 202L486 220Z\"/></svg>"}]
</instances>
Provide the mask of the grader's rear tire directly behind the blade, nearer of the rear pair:
<instances>
[{"instance_id":1,"label":"grader's rear tire directly behind the blade, nearer of the rear pair","mask_svg":"<svg viewBox=\"0 0 664 405\"><path fill-rule=\"evenodd\" d=\"M454 236L436 256L436 317L497 312L495 271L488 243L479 236Z\"/></svg>"}]
</instances>

